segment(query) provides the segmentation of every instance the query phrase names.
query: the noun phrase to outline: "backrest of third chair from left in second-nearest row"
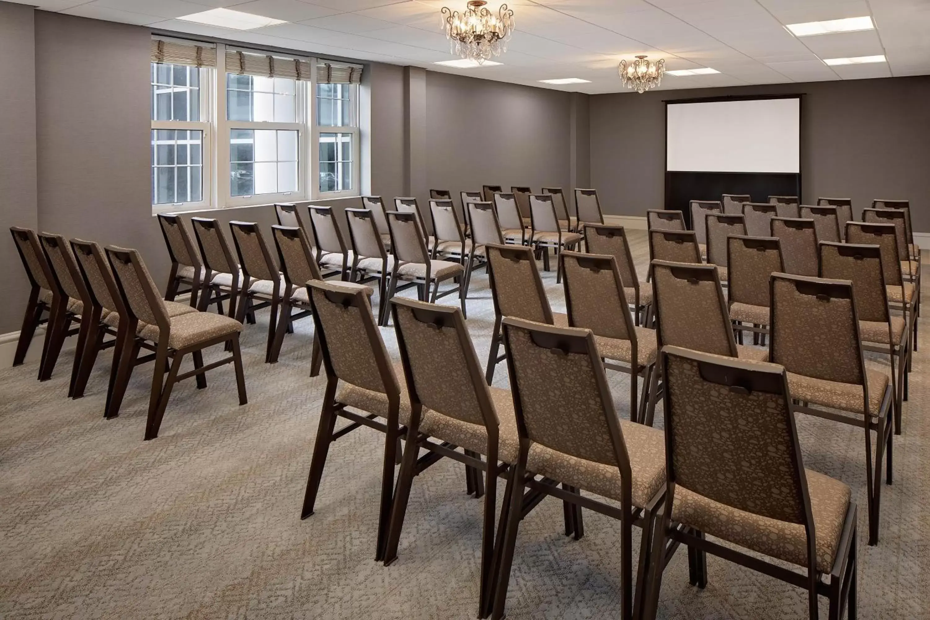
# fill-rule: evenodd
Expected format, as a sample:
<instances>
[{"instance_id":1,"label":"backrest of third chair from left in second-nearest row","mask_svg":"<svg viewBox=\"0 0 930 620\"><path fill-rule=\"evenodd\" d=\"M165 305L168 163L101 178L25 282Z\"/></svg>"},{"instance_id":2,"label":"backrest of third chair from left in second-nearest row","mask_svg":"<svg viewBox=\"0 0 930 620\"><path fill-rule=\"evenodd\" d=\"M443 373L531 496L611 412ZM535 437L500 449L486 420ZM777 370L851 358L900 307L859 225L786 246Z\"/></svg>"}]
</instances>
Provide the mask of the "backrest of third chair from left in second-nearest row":
<instances>
[{"instance_id":1,"label":"backrest of third chair from left in second-nearest row","mask_svg":"<svg viewBox=\"0 0 930 620\"><path fill-rule=\"evenodd\" d=\"M713 265L652 261L658 346L737 357L724 289Z\"/></svg>"}]
</instances>

